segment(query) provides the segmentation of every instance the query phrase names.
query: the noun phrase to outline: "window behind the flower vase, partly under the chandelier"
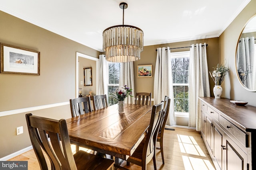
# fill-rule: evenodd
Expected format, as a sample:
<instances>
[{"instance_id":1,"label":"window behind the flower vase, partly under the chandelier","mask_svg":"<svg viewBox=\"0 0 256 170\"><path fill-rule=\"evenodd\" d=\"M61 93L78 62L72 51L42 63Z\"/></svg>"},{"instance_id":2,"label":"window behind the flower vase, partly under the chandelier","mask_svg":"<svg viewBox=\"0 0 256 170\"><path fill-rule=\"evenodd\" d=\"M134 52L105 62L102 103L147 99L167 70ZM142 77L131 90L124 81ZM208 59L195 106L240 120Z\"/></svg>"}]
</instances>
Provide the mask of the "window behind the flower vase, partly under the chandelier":
<instances>
[{"instance_id":1,"label":"window behind the flower vase, partly under the chandelier","mask_svg":"<svg viewBox=\"0 0 256 170\"><path fill-rule=\"evenodd\" d=\"M115 92L119 88L119 72L120 72L120 63L110 63L107 62L108 68L108 106L118 103L113 97L110 97L109 94Z\"/></svg>"}]
</instances>

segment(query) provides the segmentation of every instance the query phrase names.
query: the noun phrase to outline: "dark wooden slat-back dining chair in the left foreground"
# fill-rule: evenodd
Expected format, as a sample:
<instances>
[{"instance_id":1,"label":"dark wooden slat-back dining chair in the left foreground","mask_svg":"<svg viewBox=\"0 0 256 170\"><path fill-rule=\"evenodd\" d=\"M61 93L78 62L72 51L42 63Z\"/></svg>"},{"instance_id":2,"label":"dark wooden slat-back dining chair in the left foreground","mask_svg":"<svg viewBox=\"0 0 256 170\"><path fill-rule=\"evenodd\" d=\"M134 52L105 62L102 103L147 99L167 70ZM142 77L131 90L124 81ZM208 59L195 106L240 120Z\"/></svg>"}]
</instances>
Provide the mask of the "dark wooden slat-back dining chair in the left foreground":
<instances>
[{"instance_id":1,"label":"dark wooden slat-back dining chair in the left foreground","mask_svg":"<svg viewBox=\"0 0 256 170\"><path fill-rule=\"evenodd\" d=\"M43 151L50 159L52 170L109 170L114 168L114 160L83 150L73 155L65 119L54 120L27 113L26 121L41 170L48 170Z\"/></svg>"}]
</instances>

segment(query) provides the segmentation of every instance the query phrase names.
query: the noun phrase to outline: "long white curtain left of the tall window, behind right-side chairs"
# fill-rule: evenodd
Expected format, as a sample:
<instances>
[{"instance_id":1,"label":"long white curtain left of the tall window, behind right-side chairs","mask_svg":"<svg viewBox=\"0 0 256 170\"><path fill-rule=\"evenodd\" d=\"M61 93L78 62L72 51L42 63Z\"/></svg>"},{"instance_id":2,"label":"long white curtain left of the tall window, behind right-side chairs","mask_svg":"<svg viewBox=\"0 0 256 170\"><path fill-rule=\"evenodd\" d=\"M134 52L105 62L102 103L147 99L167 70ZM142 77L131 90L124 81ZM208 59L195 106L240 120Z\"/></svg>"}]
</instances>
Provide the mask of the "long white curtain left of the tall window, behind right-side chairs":
<instances>
[{"instance_id":1,"label":"long white curtain left of the tall window, behind right-side chairs","mask_svg":"<svg viewBox=\"0 0 256 170\"><path fill-rule=\"evenodd\" d=\"M169 115L166 124L175 125L174 97L172 87L172 62L170 48L158 48L156 69L154 75L154 104L164 101L165 96L171 99Z\"/></svg>"}]
</instances>

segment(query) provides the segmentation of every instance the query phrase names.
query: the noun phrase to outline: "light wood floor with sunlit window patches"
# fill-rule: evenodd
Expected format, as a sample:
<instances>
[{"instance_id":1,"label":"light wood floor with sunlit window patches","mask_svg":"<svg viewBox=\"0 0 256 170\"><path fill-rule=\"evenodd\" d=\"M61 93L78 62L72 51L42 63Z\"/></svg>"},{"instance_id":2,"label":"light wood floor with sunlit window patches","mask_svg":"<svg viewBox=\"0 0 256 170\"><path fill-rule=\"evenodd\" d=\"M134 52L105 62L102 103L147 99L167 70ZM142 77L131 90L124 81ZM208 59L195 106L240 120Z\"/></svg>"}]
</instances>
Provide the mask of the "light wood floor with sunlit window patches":
<instances>
[{"instance_id":1,"label":"light wood floor with sunlit window patches","mask_svg":"<svg viewBox=\"0 0 256 170\"><path fill-rule=\"evenodd\" d=\"M162 164L160 150L156 150L156 166L158 170L215 170L200 132L191 129L173 129L175 131L164 131L164 165ZM72 145L72 150L75 152L74 145ZM10 160L25 160L28 161L28 170L40 170L34 150L25 152ZM126 161L121 166L130 170L141 170L140 166L132 163L130 166L126 166ZM153 161L148 163L147 170L154 170Z\"/></svg>"}]
</instances>

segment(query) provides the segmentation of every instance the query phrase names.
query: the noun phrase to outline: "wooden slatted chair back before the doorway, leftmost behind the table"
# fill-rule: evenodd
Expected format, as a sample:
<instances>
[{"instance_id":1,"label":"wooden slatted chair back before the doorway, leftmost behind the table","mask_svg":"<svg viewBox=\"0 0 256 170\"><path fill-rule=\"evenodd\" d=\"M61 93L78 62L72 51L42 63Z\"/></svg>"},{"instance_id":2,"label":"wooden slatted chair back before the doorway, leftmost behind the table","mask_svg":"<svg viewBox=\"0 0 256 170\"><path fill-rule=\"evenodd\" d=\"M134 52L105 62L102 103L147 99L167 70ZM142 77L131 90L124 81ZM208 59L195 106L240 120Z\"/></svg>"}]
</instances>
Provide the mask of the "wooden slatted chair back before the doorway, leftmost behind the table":
<instances>
[{"instance_id":1,"label":"wooden slatted chair back before the doorway, leftmost behind the table","mask_svg":"<svg viewBox=\"0 0 256 170\"><path fill-rule=\"evenodd\" d=\"M92 111L90 97L70 99L71 116L76 117Z\"/></svg>"}]
</instances>

